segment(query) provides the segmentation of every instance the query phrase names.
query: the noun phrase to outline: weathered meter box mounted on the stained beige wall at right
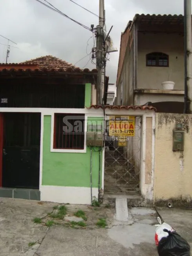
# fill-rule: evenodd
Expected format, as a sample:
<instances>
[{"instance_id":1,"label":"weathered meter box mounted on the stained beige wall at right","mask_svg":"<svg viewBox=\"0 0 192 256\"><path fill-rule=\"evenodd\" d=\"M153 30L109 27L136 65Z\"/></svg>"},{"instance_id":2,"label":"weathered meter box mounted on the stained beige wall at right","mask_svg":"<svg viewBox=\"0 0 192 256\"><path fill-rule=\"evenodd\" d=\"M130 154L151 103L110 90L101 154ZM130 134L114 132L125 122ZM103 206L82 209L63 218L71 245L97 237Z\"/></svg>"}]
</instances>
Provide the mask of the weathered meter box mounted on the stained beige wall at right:
<instances>
[{"instance_id":1,"label":"weathered meter box mounted on the stained beige wall at right","mask_svg":"<svg viewBox=\"0 0 192 256\"><path fill-rule=\"evenodd\" d=\"M184 135L183 124L176 124L173 129L173 151L184 151Z\"/></svg>"}]
</instances>

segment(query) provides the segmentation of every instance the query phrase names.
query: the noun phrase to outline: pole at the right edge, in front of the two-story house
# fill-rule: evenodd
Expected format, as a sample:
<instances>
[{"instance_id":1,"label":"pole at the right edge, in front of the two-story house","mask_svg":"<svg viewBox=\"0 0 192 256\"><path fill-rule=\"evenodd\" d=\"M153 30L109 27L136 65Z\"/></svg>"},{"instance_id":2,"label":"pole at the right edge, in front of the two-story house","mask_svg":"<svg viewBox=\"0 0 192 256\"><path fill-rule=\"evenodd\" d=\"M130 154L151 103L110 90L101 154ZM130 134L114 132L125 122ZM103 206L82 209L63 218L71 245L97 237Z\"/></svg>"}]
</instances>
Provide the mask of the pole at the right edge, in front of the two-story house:
<instances>
[{"instance_id":1,"label":"pole at the right edge, in front of the two-story house","mask_svg":"<svg viewBox=\"0 0 192 256\"><path fill-rule=\"evenodd\" d=\"M187 100L188 100L188 104L187 104L187 113L191 114L192 113L192 22L191 22L191 0L184 0L184 6L185 6L185 10L184 10L184 19L185 19L185 32L186 32L186 61L185 61L185 65L187 64L187 74L186 74L186 87L185 88L186 94L187 94Z\"/></svg>"}]
</instances>

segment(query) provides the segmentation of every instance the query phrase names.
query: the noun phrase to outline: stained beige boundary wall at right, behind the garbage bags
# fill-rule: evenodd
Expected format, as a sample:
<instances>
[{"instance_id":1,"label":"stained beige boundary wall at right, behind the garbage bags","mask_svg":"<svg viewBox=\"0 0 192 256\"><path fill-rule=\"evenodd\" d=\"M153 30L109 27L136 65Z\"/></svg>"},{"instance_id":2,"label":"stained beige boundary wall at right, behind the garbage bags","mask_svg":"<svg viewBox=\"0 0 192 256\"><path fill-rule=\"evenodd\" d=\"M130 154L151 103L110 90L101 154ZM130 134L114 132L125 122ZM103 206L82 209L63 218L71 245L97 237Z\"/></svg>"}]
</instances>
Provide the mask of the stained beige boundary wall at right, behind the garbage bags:
<instances>
[{"instance_id":1,"label":"stained beige boundary wall at right, behind the garbage bags","mask_svg":"<svg viewBox=\"0 0 192 256\"><path fill-rule=\"evenodd\" d=\"M176 123L185 129L184 152L172 151ZM192 203L192 116L156 113L154 203L174 206Z\"/></svg>"}]
</instances>

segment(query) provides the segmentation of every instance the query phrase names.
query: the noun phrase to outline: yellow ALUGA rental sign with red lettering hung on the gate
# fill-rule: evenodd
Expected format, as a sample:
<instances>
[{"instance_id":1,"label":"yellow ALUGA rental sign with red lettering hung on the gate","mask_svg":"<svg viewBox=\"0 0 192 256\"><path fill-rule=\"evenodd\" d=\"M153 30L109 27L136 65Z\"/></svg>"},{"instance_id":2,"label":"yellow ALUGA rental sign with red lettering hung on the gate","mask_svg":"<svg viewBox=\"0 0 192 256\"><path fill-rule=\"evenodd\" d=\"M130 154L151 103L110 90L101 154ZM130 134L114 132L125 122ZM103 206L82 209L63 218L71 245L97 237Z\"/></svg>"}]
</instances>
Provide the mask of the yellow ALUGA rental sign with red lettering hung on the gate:
<instances>
[{"instance_id":1,"label":"yellow ALUGA rental sign with red lettering hung on the gate","mask_svg":"<svg viewBox=\"0 0 192 256\"><path fill-rule=\"evenodd\" d=\"M135 116L110 116L109 136L135 136Z\"/></svg>"}]
</instances>

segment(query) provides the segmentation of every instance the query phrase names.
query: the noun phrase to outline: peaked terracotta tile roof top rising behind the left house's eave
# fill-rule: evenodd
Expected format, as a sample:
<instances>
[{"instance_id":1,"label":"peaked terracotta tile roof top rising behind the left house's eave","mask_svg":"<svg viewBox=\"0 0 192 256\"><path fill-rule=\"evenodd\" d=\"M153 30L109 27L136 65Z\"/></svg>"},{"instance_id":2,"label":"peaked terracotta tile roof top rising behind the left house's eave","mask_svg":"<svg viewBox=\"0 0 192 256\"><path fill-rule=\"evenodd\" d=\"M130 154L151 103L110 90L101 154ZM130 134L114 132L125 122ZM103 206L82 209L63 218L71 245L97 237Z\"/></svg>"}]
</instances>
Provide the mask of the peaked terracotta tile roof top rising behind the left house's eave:
<instances>
[{"instance_id":1,"label":"peaked terracotta tile roof top rising behind the left house's eave","mask_svg":"<svg viewBox=\"0 0 192 256\"><path fill-rule=\"evenodd\" d=\"M47 56L43 56L40 58L36 58L33 60L27 60L25 62L21 62L20 64L25 64L25 65L38 65L40 70L43 69L54 69L54 70L59 70L59 69L63 69L63 71L67 71L67 69L79 69L80 71L82 71L82 69L80 69L79 67L76 67L68 62L66 62L65 60L60 60L59 58L56 58L54 56L51 55L47 55Z\"/></svg>"}]
</instances>

